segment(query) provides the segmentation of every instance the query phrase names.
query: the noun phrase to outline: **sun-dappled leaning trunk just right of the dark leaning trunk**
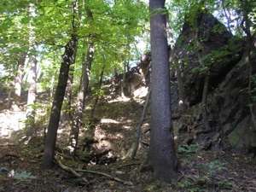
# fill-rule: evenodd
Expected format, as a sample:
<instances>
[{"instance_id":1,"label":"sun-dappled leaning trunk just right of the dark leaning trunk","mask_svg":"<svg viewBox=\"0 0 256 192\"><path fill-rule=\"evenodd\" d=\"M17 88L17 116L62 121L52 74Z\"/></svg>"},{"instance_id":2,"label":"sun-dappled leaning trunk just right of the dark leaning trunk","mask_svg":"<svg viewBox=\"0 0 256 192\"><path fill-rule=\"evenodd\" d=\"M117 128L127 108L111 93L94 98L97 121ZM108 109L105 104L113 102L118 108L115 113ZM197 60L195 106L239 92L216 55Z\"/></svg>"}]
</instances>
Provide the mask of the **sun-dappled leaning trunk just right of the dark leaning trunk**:
<instances>
[{"instance_id":1,"label":"sun-dappled leaning trunk just right of the dark leaning trunk","mask_svg":"<svg viewBox=\"0 0 256 192\"><path fill-rule=\"evenodd\" d=\"M94 58L94 44L89 43L87 54L85 55L83 65L83 72L80 82L80 90L77 97L77 106L73 118L73 127L70 133L70 145L73 148L73 154L75 154L76 149L79 144L79 129L83 125L83 113L85 109L85 100L88 94L89 80L90 80L90 68Z\"/></svg>"}]
</instances>

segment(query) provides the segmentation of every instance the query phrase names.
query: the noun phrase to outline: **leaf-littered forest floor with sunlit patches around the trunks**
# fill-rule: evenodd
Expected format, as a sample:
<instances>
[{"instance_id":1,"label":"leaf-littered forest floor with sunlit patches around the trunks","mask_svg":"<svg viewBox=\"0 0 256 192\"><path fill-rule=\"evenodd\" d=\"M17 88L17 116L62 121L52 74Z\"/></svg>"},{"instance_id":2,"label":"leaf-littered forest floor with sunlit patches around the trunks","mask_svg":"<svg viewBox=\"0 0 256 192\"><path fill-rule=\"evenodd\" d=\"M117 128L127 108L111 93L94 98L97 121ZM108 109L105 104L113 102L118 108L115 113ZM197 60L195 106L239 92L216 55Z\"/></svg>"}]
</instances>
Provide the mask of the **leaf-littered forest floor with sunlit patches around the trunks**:
<instances>
[{"instance_id":1,"label":"leaf-littered forest floor with sunlit patches around the trunks","mask_svg":"<svg viewBox=\"0 0 256 192\"><path fill-rule=\"evenodd\" d=\"M205 151L195 144L177 144L179 169L176 183L155 181L152 172L143 166L148 151L148 118L143 124L144 144L141 144L136 159L123 160L134 140L142 111L142 98L103 99L96 109L98 120L93 131L90 130L95 138L91 147L95 159L89 161L86 151L79 150L77 158L66 153L63 146L68 131L63 131L66 129L63 125L58 138L58 148L63 150L58 149L57 154L61 163L73 170L93 171L84 174L76 171L84 178L81 179L58 165L51 170L42 170L43 139L29 143L18 141L25 112L2 108L0 192L256 191L256 160L253 157L230 151Z\"/></svg>"}]
</instances>

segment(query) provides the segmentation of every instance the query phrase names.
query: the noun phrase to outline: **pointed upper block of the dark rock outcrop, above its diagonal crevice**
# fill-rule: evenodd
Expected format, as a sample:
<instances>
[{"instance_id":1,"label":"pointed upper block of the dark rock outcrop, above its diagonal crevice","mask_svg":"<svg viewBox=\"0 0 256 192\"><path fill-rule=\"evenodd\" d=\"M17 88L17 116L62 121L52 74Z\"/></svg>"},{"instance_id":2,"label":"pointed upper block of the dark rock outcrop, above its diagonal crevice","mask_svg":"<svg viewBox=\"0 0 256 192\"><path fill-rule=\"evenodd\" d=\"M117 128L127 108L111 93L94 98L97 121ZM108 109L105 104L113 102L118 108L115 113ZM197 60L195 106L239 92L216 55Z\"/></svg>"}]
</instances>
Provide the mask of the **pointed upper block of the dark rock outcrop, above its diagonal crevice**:
<instances>
[{"instance_id":1,"label":"pointed upper block of the dark rock outcrop, above its diagonal crevice","mask_svg":"<svg viewBox=\"0 0 256 192\"><path fill-rule=\"evenodd\" d=\"M202 56L204 64L210 66L210 91L222 82L224 76L241 59L241 41L233 38L213 15L199 13L196 20L196 26L193 20L184 23L174 48L174 60L182 68L184 94L190 106L201 102L206 74L206 71L201 70L203 67L198 54ZM197 29L202 48L196 45Z\"/></svg>"}]
</instances>

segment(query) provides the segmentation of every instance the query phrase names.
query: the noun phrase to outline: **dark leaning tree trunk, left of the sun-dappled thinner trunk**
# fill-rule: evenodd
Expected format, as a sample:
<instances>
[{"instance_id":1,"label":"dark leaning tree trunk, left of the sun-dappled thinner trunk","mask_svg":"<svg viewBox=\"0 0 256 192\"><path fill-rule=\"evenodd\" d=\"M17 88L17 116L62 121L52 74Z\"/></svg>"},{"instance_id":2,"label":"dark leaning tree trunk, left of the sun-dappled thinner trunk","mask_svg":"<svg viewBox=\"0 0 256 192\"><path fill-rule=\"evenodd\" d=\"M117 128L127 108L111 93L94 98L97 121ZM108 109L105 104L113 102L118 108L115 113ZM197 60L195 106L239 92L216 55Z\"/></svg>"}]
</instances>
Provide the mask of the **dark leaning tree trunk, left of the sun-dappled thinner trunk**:
<instances>
[{"instance_id":1,"label":"dark leaning tree trunk, left of the sun-dappled thinner trunk","mask_svg":"<svg viewBox=\"0 0 256 192\"><path fill-rule=\"evenodd\" d=\"M64 55L62 55L61 69L59 73L58 84L55 90L55 96L52 103L51 113L49 117L48 131L44 145L43 166L49 168L53 165L55 155L55 142L57 130L61 116L61 106L65 96L67 87L67 79L69 67L73 64L75 58L75 50L77 49L78 37L73 35L65 46Z\"/></svg>"}]
</instances>

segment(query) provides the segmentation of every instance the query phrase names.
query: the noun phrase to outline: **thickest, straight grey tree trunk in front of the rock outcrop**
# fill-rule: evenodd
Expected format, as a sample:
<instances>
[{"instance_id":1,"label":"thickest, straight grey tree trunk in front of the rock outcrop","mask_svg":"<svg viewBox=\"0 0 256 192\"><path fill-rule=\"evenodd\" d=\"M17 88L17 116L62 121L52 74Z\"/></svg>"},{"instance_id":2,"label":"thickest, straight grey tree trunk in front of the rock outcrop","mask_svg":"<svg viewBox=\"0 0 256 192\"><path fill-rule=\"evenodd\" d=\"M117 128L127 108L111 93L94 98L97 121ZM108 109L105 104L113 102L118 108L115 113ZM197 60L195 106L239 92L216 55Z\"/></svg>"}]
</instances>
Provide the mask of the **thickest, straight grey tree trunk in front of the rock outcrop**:
<instances>
[{"instance_id":1,"label":"thickest, straight grey tree trunk in front of the rock outcrop","mask_svg":"<svg viewBox=\"0 0 256 192\"><path fill-rule=\"evenodd\" d=\"M177 155L172 132L165 0L150 0L149 7L152 53L149 160L154 176L171 182L177 177Z\"/></svg>"}]
</instances>

